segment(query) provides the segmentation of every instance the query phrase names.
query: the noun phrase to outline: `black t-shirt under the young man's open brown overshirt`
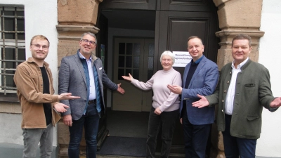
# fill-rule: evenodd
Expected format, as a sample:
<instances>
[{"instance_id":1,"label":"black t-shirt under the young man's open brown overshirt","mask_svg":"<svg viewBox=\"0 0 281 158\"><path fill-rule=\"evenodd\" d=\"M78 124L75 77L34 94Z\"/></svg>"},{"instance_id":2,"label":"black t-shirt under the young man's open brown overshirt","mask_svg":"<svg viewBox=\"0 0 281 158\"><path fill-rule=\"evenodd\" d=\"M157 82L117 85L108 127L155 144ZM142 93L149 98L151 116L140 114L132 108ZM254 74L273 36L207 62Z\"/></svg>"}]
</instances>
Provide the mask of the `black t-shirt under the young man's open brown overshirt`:
<instances>
[{"instance_id":1,"label":"black t-shirt under the young man's open brown overshirt","mask_svg":"<svg viewBox=\"0 0 281 158\"><path fill-rule=\"evenodd\" d=\"M43 93L50 93L50 83L48 81L48 74L46 72L45 67L40 67L42 72L42 79L43 79ZM46 125L50 124L52 122L52 110L51 110L51 104L50 103L43 103L44 112L45 112L45 118L46 118Z\"/></svg>"}]
</instances>

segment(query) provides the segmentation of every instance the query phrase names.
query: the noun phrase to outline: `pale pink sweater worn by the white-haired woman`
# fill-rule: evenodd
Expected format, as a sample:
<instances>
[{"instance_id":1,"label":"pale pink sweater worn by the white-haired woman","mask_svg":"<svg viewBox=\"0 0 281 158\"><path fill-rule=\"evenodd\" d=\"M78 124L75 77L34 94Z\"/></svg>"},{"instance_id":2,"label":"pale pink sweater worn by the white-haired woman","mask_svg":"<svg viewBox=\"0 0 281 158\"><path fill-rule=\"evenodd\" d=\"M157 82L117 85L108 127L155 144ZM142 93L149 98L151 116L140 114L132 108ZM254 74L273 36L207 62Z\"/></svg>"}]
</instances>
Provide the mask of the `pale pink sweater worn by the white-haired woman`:
<instances>
[{"instance_id":1,"label":"pale pink sweater worn by the white-haired woman","mask_svg":"<svg viewBox=\"0 0 281 158\"><path fill-rule=\"evenodd\" d=\"M146 83L137 79L133 79L131 83L143 90L152 88L154 93L152 106L155 109L159 107L162 112L171 112L178 110L180 107L178 94L171 92L167 88L168 84L181 86L181 74L174 70L173 67L168 71L157 71Z\"/></svg>"}]
</instances>

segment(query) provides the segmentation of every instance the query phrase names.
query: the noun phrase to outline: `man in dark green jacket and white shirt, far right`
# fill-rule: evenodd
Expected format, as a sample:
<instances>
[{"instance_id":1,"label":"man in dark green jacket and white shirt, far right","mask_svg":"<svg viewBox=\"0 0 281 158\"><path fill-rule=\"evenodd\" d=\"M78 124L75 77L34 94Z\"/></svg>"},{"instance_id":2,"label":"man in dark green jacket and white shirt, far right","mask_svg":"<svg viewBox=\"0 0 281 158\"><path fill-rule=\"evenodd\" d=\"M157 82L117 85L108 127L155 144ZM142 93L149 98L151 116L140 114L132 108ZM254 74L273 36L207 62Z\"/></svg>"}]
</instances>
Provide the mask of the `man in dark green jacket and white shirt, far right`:
<instances>
[{"instance_id":1,"label":"man in dark green jacket and white shirt, far right","mask_svg":"<svg viewBox=\"0 0 281 158\"><path fill-rule=\"evenodd\" d=\"M274 112L281 98L274 98L266 67L249 59L251 37L238 34L232 41L233 62L221 69L216 91L200 96L194 107L218 104L216 124L223 133L227 158L254 158L256 140L261 134L263 107Z\"/></svg>"}]
</instances>

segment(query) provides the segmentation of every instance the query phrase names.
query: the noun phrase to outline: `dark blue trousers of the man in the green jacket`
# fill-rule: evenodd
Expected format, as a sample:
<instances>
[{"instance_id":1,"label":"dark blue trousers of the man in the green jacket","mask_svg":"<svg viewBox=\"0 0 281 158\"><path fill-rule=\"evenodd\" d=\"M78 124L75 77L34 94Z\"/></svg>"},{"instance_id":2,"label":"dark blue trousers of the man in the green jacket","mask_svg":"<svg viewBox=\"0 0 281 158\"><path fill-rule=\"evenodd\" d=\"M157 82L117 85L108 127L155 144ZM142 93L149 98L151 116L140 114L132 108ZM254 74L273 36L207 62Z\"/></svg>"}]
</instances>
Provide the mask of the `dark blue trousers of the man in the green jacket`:
<instances>
[{"instance_id":1,"label":"dark blue trousers of the man in the green jacket","mask_svg":"<svg viewBox=\"0 0 281 158\"><path fill-rule=\"evenodd\" d=\"M231 115L226 114L226 129L223 131L223 144L226 158L254 158L256 139L237 138L230 135Z\"/></svg>"}]
</instances>

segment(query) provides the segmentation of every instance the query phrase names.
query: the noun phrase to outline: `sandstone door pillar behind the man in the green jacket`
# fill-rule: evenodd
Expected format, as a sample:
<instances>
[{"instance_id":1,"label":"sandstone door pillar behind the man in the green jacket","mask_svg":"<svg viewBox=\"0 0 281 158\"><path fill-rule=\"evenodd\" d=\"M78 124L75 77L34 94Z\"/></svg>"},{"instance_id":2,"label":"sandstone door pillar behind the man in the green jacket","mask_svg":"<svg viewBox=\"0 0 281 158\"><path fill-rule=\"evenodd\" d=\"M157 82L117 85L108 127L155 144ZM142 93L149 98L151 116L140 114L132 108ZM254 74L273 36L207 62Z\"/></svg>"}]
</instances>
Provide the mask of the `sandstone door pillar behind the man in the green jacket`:
<instances>
[{"instance_id":1,"label":"sandstone door pillar behind the man in the green jacket","mask_svg":"<svg viewBox=\"0 0 281 158\"><path fill-rule=\"evenodd\" d=\"M218 22L221 31L216 32L216 37L221 39L218 49L218 68L221 70L223 65L233 61L231 55L231 41L236 34L249 34L252 40L251 60L259 60L259 39L264 32L259 30L261 27L261 8L262 0L213 0L218 7ZM215 149L212 157L223 158L223 136L216 130L214 124L211 143Z\"/></svg>"}]
</instances>

